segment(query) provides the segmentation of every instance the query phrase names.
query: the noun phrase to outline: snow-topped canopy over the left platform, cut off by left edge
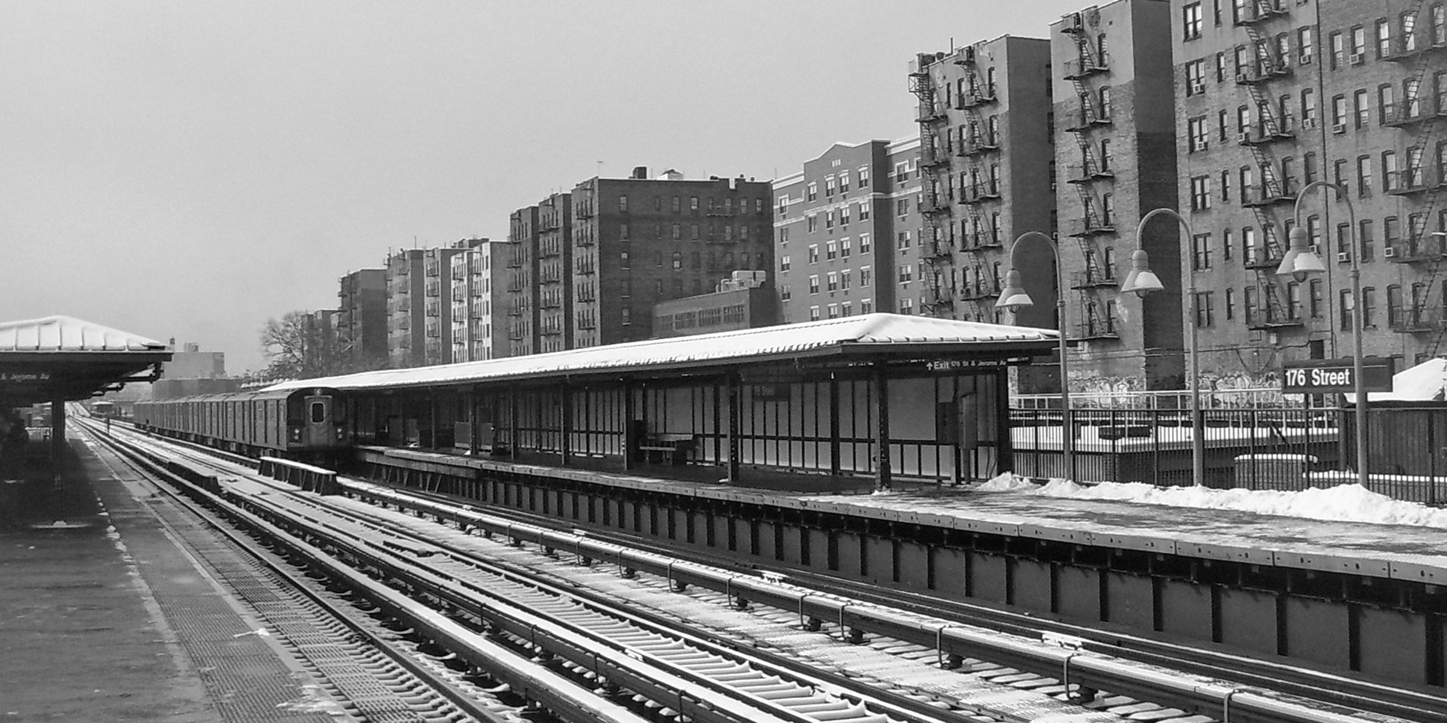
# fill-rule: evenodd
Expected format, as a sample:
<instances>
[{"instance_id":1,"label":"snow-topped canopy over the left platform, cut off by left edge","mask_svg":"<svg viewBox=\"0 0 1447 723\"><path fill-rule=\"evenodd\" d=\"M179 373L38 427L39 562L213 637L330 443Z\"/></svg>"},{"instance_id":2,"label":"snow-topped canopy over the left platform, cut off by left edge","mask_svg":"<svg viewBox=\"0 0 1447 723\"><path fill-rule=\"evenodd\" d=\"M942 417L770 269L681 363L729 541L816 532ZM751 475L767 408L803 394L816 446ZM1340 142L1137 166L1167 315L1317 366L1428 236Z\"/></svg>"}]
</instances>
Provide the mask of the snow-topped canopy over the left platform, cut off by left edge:
<instances>
[{"instance_id":1,"label":"snow-topped canopy over the left platform, cut off by left edge","mask_svg":"<svg viewBox=\"0 0 1447 723\"><path fill-rule=\"evenodd\" d=\"M0 406L85 399L153 382L165 344L71 317L0 322Z\"/></svg>"}]
</instances>

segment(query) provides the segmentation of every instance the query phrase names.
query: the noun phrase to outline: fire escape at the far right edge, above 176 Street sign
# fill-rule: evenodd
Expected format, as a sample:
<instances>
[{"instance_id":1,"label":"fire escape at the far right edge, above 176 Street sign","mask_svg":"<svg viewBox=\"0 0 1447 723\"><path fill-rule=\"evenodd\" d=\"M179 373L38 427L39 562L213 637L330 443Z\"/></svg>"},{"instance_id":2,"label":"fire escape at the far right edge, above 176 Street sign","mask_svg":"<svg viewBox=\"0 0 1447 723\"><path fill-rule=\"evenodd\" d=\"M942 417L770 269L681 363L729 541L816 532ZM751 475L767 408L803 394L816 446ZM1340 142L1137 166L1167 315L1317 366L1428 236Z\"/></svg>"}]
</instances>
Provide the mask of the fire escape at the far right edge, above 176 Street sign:
<instances>
[{"instance_id":1,"label":"fire escape at the far right edge, above 176 Street sign","mask_svg":"<svg viewBox=\"0 0 1447 723\"><path fill-rule=\"evenodd\" d=\"M1437 120L1447 116L1447 107L1435 93L1424 97L1422 85L1430 81L1431 71L1441 67L1447 55L1447 17L1433 17L1431 9L1424 9L1422 0L1412 0L1404 13L1406 25L1402 36L1395 40L1388 61L1411 67L1411 77L1404 88L1404 98L1386 110L1386 126L1402 130L1406 140L1402 158L1405 168L1388 178L1386 192L1396 195L1409 208L1406 214L1406 243L1388 252L1395 263L1417 263L1420 275L1411 286L1409 307L1389 320L1392 330L1404 334L1437 334L1431 354L1441 351L1447 327L1447 296L1438 296L1435 307L1428 305L1433 288L1438 286L1447 244L1431 230L1433 215L1438 213L1438 198L1447 185L1447 158L1430 155L1433 142L1438 139ZM1437 6L1440 9L1440 6ZM1433 178L1435 176L1435 178ZM1447 230L1438 221L1438 231Z\"/></svg>"}]
</instances>

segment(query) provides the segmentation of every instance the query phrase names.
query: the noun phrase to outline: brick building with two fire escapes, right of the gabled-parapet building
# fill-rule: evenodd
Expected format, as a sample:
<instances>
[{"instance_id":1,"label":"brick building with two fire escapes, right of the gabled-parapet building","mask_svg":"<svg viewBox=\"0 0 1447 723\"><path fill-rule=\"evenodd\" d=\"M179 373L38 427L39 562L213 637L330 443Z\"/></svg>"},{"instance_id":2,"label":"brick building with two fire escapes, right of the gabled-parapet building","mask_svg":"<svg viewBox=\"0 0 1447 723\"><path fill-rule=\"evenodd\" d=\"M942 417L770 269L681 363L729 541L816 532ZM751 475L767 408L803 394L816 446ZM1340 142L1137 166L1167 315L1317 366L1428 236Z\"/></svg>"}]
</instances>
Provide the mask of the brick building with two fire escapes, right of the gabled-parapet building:
<instances>
[{"instance_id":1,"label":"brick building with two fire escapes, right of the gabled-parapet building","mask_svg":"<svg viewBox=\"0 0 1447 723\"><path fill-rule=\"evenodd\" d=\"M909 295L932 315L1011 321L994 308L1011 268L1011 241L1024 231L1056 228L1051 42L1001 36L948 54L920 54L909 77L923 175L916 250L922 283ZM1032 246L1014 254L1013 266L1035 301L1014 322L1058 328L1053 260Z\"/></svg>"}]
</instances>

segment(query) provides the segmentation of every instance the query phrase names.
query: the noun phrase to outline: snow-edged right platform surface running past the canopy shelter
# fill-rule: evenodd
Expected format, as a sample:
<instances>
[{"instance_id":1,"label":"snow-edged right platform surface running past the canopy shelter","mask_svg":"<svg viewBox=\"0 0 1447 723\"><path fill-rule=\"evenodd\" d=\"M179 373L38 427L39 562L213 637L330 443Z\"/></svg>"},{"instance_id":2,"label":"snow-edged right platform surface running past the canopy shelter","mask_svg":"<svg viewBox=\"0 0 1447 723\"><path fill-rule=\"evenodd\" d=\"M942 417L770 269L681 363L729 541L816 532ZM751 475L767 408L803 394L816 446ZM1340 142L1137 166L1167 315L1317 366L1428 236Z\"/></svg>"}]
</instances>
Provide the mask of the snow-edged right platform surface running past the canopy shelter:
<instances>
[{"instance_id":1,"label":"snow-edged right platform surface running past the canopy shelter","mask_svg":"<svg viewBox=\"0 0 1447 723\"><path fill-rule=\"evenodd\" d=\"M414 469L531 474L1010 538L1447 584L1447 529L1431 526L980 492L903 480L896 480L887 495L873 495L873 483L861 477L765 470L747 470L744 480L731 484L719 480L719 469L710 466L653 464L622 473L573 460L569 467L557 467L556 455L548 464L541 458L506 461L391 447L359 447L359 453L363 460L388 457ZM802 487L800 479L809 483Z\"/></svg>"}]
</instances>

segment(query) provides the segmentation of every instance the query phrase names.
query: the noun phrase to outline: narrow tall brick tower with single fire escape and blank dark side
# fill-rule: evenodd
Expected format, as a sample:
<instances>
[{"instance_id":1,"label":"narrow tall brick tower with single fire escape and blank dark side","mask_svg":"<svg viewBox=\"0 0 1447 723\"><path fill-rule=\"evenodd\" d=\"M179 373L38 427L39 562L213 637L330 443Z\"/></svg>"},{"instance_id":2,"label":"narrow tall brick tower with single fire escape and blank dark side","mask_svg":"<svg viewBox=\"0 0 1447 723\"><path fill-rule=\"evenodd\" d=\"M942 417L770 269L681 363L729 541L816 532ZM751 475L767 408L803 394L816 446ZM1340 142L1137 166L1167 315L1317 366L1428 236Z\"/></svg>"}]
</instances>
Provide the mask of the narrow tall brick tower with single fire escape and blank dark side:
<instances>
[{"instance_id":1,"label":"narrow tall brick tower with single fire escape and blank dark side","mask_svg":"<svg viewBox=\"0 0 1447 723\"><path fill-rule=\"evenodd\" d=\"M1181 389L1181 294L1140 301L1117 292L1136 227L1178 208L1171 7L1117 0L1051 25L1055 204L1066 281L1072 389ZM1155 218L1142 246L1181 288L1181 237Z\"/></svg>"}]
</instances>

